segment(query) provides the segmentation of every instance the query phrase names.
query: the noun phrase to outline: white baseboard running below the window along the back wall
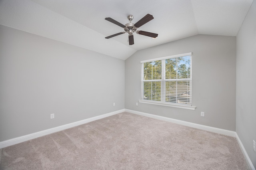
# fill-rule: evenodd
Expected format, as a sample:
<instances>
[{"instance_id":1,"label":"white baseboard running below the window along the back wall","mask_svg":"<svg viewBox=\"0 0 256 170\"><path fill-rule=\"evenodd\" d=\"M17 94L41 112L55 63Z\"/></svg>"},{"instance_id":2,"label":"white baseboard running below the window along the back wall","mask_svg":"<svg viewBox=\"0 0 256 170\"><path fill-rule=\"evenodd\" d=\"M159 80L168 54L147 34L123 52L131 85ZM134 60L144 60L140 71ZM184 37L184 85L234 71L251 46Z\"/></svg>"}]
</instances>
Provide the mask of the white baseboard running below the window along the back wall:
<instances>
[{"instance_id":1,"label":"white baseboard running below the window along the back wall","mask_svg":"<svg viewBox=\"0 0 256 170\"><path fill-rule=\"evenodd\" d=\"M167 122L176 123L176 124L179 124L179 125L184 125L184 126L187 126L187 127L198 128L198 129L201 129L201 130L206 130L206 131L210 131L210 132L214 132L214 133L218 133L218 134L224 134L224 135L227 135L227 136L236 137L236 132L231 131L231 130L225 130L225 129L215 128L215 127L208 127L208 126L205 126L205 125L190 123L190 122L186 122L186 121L180 121L180 120L172 119L172 118L168 118L168 117L162 117L162 116L158 116L158 115L152 115L152 114L148 114L148 113L132 111L132 110L129 110L129 109L125 109L125 111L129 112L129 113L134 113L136 115L151 117L151 118L159 119L159 120L162 120L162 121L167 121Z\"/></svg>"}]
</instances>

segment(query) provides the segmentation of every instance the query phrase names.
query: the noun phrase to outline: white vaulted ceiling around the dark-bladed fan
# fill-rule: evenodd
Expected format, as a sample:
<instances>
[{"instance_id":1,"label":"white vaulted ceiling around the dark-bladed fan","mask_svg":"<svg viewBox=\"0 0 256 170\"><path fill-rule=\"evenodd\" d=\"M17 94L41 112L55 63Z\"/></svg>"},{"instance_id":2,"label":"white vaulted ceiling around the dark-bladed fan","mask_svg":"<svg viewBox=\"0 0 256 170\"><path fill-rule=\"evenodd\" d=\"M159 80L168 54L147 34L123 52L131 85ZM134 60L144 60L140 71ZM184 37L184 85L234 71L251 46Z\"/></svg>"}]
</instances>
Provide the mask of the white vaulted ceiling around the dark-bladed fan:
<instances>
[{"instance_id":1,"label":"white vaulted ceiling around the dark-bladed fan","mask_svg":"<svg viewBox=\"0 0 256 170\"><path fill-rule=\"evenodd\" d=\"M236 36L253 0L0 0L0 24L76 45L119 59L140 49L197 34ZM127 24L146 14L154 19L138 30L158 34L153 39L128 34L105 39L123 29L104 20Z\"/></svg>"}]
</instances>

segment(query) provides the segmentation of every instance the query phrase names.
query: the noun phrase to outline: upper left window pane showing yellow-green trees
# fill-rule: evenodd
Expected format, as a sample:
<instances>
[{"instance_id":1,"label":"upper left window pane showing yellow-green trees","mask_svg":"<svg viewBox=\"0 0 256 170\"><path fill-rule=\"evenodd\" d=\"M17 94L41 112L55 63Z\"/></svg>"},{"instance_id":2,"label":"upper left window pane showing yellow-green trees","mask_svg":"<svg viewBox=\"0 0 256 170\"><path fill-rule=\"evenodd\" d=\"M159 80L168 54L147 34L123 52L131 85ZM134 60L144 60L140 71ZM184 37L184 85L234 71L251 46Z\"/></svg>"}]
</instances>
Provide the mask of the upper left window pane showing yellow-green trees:
<instances>
[{"instance_id":1,"label":"upper left window pane showing yellow-green trees","mask_svg":"<svg viewBox=\"0 0 256 170\"><path fill-rule=\"evenodd\" d=\"M162 79L161 60L144 63L144 80Z\"/></svg>"}]
</instances>

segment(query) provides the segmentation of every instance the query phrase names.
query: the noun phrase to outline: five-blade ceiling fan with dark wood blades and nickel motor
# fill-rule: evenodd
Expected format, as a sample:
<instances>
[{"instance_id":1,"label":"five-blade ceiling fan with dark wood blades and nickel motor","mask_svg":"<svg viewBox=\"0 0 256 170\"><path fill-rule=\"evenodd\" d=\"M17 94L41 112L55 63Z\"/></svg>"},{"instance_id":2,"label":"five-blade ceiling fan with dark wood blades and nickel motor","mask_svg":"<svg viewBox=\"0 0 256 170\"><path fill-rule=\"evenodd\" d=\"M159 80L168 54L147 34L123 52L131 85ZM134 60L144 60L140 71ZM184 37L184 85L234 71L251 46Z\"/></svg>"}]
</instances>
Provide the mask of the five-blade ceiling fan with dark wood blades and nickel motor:
<instances>
[{"instance_id":1,"label":"five-blade ceiling fan with dark wood blades and nickel motor","mask_svg":"<svg viewBox=\"0 0 256 170\"><path fill-rule=\"evenodd\" d=\"M128 38L129 38L129 45L134 44L134 39L133 39L133 33L136 32L137 34L143 35L143 36L148 36L148 37L152 37L152 38L156 38L158 36L158 34L152 33L152 32L146 32L146 31L140 31L137 30L140 26L146 24L147 22L151 21L154 19L154 17L150 14L146 14L146 16L144 16L143 18L141 18L138 22L136 22L135 24L132 23L132 19L133 16L132 15L128 15L128 20L130 20L130 23L127 23L125 25L121 24L120 22L117 22L116 20L113 20L112 18L105 18L105 20L112 22L113 24L116 24L122 28L124 28L124 32L119 32L117 34L113 34L111 36L105 37L106 39L124 34L126 32L128 32Z\"/></svg>"}]
</instances>

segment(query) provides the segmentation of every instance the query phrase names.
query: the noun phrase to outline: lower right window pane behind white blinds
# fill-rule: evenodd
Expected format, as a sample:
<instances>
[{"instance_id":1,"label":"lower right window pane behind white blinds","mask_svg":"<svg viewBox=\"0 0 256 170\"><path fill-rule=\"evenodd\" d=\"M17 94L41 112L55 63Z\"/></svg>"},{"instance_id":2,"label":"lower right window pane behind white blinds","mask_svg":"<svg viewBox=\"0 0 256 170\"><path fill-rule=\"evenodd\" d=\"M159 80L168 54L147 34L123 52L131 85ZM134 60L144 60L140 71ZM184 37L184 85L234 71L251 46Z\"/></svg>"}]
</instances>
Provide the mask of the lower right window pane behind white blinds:
<instances>
[{"instance_id":1,"label":"lower right window pane behind white blinds","mask_svg":"<svg viewBox=\"0 0 256 170\"><path fill-rule=\"evenodd\" d=\"M167 81L167 102L190 104L190 81Z\"/></svg>"}]
</instances>

